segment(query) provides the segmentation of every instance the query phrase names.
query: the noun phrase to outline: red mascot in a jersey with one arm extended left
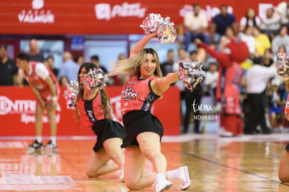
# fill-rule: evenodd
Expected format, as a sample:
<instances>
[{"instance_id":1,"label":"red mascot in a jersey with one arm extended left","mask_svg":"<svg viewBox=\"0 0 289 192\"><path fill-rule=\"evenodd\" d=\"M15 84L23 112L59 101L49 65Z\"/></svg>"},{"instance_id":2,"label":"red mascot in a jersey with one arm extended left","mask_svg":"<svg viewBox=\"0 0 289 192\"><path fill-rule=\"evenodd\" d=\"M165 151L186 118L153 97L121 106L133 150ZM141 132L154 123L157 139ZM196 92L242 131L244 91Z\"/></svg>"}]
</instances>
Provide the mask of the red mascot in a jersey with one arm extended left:
<instances>
[{"instance_id":1,"label":"red mascot in a jersey with one arm extended left","mask_svg":"<svg viewBox=\"0 0 289 192\"><path fill-rule=\"evenodd\" d=\"M241 84L242 68L239 64L249 58L249 49L246 43L232 38L225 45L223 52L216 52L195 39L195 44L204 48L220 64L216 98L221 100L221 131L220 136L233 137L243 134L242 110L239 101L239 85Z\"/></svg>"}]
</instances>

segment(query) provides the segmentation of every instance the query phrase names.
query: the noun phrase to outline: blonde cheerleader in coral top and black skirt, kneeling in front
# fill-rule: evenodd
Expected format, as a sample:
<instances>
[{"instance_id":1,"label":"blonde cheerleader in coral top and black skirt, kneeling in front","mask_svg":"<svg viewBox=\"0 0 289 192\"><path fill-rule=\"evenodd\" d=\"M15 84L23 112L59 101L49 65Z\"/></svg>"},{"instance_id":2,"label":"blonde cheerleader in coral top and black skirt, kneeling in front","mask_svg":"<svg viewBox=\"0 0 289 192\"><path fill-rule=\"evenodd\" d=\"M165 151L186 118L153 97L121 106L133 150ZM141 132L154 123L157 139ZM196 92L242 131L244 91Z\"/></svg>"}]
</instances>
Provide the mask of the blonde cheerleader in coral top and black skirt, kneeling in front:
<instances>
[{"instance_id":1,"label":"blonde cheerleader in coral top and black skirt, kneeling in front","mask_svg":"<svg viewBox=\"0 0 289 192\"><path fill-rule=\"evenodd\" d=\"M161 153L163 126L151 114L154 101L170 84L177 81L177 72L161 75L158 54L144 49L156 34L144 36L131 50L129 59L118 61L110 75L129 73L131 79L121 91L121 113L127 137L121 147L126 148L124 182L128 189L144 189L155 182L156 191L170 189L170 179L179 179L181 189L191 185L186 166L166 172L167 161ZM154 165L156 173L143 174L146 158Z\"/></svg>"}]
</instances>

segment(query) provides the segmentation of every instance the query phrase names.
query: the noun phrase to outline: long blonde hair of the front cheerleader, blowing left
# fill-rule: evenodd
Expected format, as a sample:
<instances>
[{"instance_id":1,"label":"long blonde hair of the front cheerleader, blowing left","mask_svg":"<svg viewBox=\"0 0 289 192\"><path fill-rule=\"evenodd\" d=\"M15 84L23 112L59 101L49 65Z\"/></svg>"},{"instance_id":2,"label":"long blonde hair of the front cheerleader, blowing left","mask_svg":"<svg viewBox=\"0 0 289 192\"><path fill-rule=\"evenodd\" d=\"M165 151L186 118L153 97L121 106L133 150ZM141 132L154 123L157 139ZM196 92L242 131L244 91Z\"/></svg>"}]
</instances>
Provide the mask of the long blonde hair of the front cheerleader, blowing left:
<instances>
[{"instance_id":1,"label":"long blonde hair of the front cheerleader, blowing left","mask_svg":"<svg viewBox=\"0 0 289 192\"><path fill-rule=\"evenodd\" d=\"M145 61L148 53L152 54L156 59L156 70L154 71L154 75L162 77L160 59L158 59L158 54L152 48L145 48L133 57L112 63L114 68L112 68L109 75L114 76L121 73L128 73L131 76L140 76L140 65Z\"/></svg>"}]
</instances>

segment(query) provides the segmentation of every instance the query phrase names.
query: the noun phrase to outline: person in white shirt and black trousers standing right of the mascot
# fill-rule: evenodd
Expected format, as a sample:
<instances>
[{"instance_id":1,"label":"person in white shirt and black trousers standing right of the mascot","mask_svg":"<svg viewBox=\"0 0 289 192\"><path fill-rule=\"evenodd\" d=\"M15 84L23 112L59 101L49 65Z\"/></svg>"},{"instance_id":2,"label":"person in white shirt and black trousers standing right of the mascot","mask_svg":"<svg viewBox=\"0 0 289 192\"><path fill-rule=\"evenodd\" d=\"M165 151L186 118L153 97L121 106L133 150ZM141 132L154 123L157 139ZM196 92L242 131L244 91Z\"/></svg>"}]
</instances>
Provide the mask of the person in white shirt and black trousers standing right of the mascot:
<instances>
[{"instance_id":1,"label":"person in white shirt and black trousers standing right of the mascot","mask_svg":"<svg viewBox=\"0 0 289 192\"><path fill-rule=\"evenodd\" d=\"M254 65L246 73L246 94L249 103L249 115L244 134L257 133L260 124L263 134L271 133L266 124L265 111L267 108L266 87L269 78L276 75L274 66L265 67L262 57L254 59Z\"/></svg>"}]
</instances>

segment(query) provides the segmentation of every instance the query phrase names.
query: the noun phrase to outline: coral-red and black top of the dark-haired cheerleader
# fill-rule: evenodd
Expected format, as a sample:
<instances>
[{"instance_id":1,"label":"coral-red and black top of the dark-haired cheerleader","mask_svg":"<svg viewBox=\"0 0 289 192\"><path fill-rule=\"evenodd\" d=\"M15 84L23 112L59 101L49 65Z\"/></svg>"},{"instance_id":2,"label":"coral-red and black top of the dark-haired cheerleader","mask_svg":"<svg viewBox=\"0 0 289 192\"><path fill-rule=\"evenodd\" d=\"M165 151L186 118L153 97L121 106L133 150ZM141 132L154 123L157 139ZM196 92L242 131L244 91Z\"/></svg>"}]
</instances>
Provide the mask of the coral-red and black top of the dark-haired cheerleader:
<instances>
[{"instance_id":1,"label":"coral-red and black top of the dark-haired cheerleader","mask_svg":"<svg viewBox=\"0 0 289 192\"><path fill-rule=\"evenodd\" d=\"M96 121L105 119L105 113L101 105L101 91L98 90L96 96L89 101L84 101L80 97L77 102L77 110L81 123L87 128L91 128Z\"/></svg>"}]
</instances>

